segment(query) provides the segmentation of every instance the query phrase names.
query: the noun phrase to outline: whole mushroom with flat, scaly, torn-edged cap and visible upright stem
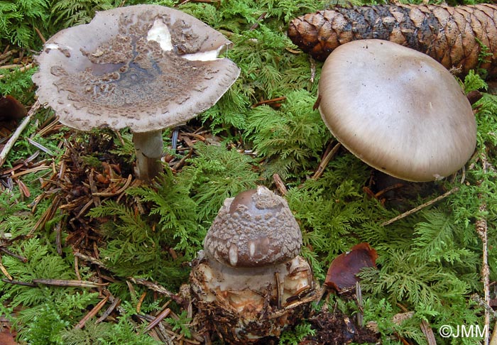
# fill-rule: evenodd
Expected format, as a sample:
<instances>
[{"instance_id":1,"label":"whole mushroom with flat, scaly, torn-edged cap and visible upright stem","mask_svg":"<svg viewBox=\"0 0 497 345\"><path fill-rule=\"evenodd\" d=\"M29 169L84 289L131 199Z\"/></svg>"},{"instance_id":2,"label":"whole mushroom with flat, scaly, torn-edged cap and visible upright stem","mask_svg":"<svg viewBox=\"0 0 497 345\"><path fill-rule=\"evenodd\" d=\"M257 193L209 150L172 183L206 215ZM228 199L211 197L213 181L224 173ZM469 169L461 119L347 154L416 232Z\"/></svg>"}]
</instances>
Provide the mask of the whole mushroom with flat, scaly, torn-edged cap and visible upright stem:
<instances>
[{"instance_id":1,"label":"whole mushroom with flat, scaly, torn-edged cap and visible upright stem","mask_svg":"<svg viewBox=\"0 0 497 345\"><path fill-rule=\"evenodd\" d=\"M158 5L98 12L56 33L37 57L40 102L66 126L129 127L138 177L160 172L162 129L215 104L239 76L231 42L198 19Z\"/></svg>"}]
</instances>

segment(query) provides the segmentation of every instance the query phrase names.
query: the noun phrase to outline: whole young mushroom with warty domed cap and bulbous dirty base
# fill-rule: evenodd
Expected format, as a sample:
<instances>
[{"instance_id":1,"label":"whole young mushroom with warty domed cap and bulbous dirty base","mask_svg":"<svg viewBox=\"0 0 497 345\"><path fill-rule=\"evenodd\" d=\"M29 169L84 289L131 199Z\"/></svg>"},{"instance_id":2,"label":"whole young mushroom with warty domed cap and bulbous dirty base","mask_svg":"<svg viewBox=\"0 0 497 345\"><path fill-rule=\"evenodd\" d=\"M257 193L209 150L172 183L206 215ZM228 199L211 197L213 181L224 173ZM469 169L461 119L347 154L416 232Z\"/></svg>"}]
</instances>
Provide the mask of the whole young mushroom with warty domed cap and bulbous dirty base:
<instances>
[{"instance_id":1,"label":"whole young mushroom with warty domed cap and bulbous dirty base","mask_svg":"<svg viewBox=\"0 0 497 345\"><path fill-rule=\"evenodd\" d=\"M190 275L198 322L230 343L279 336L315 295L301 246L282 197L259 186L226 199Z\"/></svg>"}]
</instances>

